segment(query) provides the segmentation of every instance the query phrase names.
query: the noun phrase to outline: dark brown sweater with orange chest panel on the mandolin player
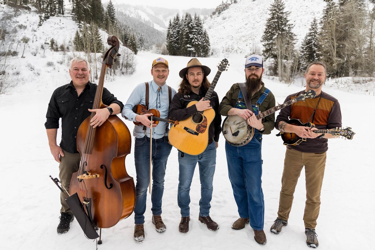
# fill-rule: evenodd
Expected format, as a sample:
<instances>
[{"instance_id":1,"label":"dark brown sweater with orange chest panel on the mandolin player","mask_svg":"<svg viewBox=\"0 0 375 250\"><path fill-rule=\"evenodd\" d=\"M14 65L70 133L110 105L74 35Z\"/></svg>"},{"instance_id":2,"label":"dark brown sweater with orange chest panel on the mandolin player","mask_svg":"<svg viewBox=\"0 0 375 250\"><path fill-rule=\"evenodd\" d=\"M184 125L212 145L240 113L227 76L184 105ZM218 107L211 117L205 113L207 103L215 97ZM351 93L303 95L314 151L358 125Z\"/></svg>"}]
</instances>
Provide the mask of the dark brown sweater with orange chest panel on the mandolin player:
<instances>
[{"instance_id":1,"label":"dark brown sweater with orange chest panel on the mandolin player","mask_svg":"<svg viewBox=\"0 0 375 250\"><path fill-rule=\"evenodd\" d=\"M305 90L289 95L284 103L304 92ZM304 102L295 102L281 109L276 118L275 128L279 129L280 121L288 121L290 119L299 119L302 123L307 123L315 107L317 107L317 104L318 107L315 112L314 120L310 121L315 124L317 129L335 129L336 127L341 127L341 109L338 100L323 91L321 94L319 104L320 94L313 99L306 99ZM315 139L308 138L305 142L290 147L306 153L325 152L328 150L328 139L319 137Z\"/></svg>"}]
</instances>

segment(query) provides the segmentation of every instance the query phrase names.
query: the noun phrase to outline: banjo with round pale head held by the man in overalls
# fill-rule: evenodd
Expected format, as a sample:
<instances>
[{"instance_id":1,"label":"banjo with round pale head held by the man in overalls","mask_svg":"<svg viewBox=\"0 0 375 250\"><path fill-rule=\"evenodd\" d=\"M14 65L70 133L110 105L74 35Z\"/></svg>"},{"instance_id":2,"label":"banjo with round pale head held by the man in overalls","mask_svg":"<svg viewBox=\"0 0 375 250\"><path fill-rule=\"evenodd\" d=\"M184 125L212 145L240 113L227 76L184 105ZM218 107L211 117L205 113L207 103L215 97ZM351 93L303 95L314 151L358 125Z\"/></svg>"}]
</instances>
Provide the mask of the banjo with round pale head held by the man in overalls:
<instances>
[{"instance_id":1,"label":"banjo with round pale head held by the man in overalls","mask_svg":"<svg viewBox=\"0 0 375 250\"><path fill-rule=\"evenodd\" d=\"M279 104L278 106L256 115L256 117L258 120L262 119L267 115L273 114L276 111L291 105L292 103L305 101L306 98L314 98L315 94L316 92L314 90L308 90L288 102ZM245 119L238 115L229 115L226 117L222 126L222 133L225 140L230 145L237 147L248 144L254 136L254 130L254 127L251 127Z\"/></svg>"}]
</instances>

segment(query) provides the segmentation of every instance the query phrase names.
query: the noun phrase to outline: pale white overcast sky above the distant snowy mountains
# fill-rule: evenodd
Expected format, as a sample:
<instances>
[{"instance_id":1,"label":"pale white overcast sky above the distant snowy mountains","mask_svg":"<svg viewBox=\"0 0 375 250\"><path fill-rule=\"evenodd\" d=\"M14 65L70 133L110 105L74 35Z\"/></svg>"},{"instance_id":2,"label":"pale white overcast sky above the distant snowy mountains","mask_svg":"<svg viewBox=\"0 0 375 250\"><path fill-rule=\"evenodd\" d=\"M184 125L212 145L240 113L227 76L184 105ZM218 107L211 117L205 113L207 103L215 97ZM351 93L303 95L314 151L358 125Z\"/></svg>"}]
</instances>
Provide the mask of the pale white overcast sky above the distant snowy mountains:
<instances>
[{"instance_id":1,"label":"pale white overcast sky above the distant snowy mountains","mask_svg":"<svg viewBox=\"0 0 375 250\"><path fill-rule=\"evenodd\" d=\"M108 0L109 1L109 0ZM104 0L103 2L108 2ZM126 3L131 5L148 5L148 6L158 6L170 9L189 9L192 7L196 8L215 8L219 5L222 0L188 0L188 1L178 1L178 0L112 0L113 3Z\"/></svg>"}]
</instances>

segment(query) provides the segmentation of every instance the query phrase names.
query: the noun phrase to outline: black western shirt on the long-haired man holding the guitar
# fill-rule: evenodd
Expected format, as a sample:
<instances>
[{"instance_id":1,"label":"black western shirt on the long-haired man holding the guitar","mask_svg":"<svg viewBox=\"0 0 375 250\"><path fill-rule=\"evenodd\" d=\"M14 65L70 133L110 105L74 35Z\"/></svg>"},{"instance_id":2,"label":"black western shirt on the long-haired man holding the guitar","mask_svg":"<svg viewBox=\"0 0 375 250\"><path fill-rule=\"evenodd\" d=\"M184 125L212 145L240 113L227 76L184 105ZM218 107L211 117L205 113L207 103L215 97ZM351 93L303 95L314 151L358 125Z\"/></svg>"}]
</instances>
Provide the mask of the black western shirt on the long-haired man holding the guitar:
<instances>
[{"instance_id":1,"label":"black western shirt on the long-haired man holding the guitar","mask_svg":"<svg viewBox=\"0 0 375 250\"><path fill-rule=\"evenodd\" d=\"M205 96L205 92L202 88L199 89L199 95L190 91L189 94L183 95L181 93L176 93L172 99L171 105L169 105L169 119L173 121L186 120L193 114L197 113L196 106L192 105L189 108L186 106L191 101L199 101ZM208 127L208 140L212 138L214 141L219 141L219 136L221 132L221 115L219 114L219 97L216 92L213 91L210 97L210 105L215 111L215 117Z\"/></svg>"}]
</instances>

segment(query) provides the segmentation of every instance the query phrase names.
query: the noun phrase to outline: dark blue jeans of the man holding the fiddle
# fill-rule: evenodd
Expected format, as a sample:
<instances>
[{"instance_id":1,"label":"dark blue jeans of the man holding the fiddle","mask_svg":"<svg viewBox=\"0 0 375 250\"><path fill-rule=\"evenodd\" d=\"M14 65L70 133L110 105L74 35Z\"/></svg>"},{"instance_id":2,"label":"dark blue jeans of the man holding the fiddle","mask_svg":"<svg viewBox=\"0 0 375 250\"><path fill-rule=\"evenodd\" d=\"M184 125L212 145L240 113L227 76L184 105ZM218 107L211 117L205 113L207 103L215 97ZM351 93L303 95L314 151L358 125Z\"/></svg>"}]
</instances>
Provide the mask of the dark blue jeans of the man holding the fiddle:
<instances>
[{"instance_id":1,"label":"dark blue jeans of the man holding the fiddle","mask_svg":"<svg viewBox=\"0 0 375 250\"><path fill-rule=\"evenodd\" d=\"M152 139L151 211L153 215L160 215L162 213L164 176L166 162L171 149L172 145L168 143L167 137ZM134 161L137 175L134 221L135 224L140 225L144 223L143 214L146 211L147 188L150 178L150 138L147 136L135 138Z\"/></svg>"}]
</instances>

